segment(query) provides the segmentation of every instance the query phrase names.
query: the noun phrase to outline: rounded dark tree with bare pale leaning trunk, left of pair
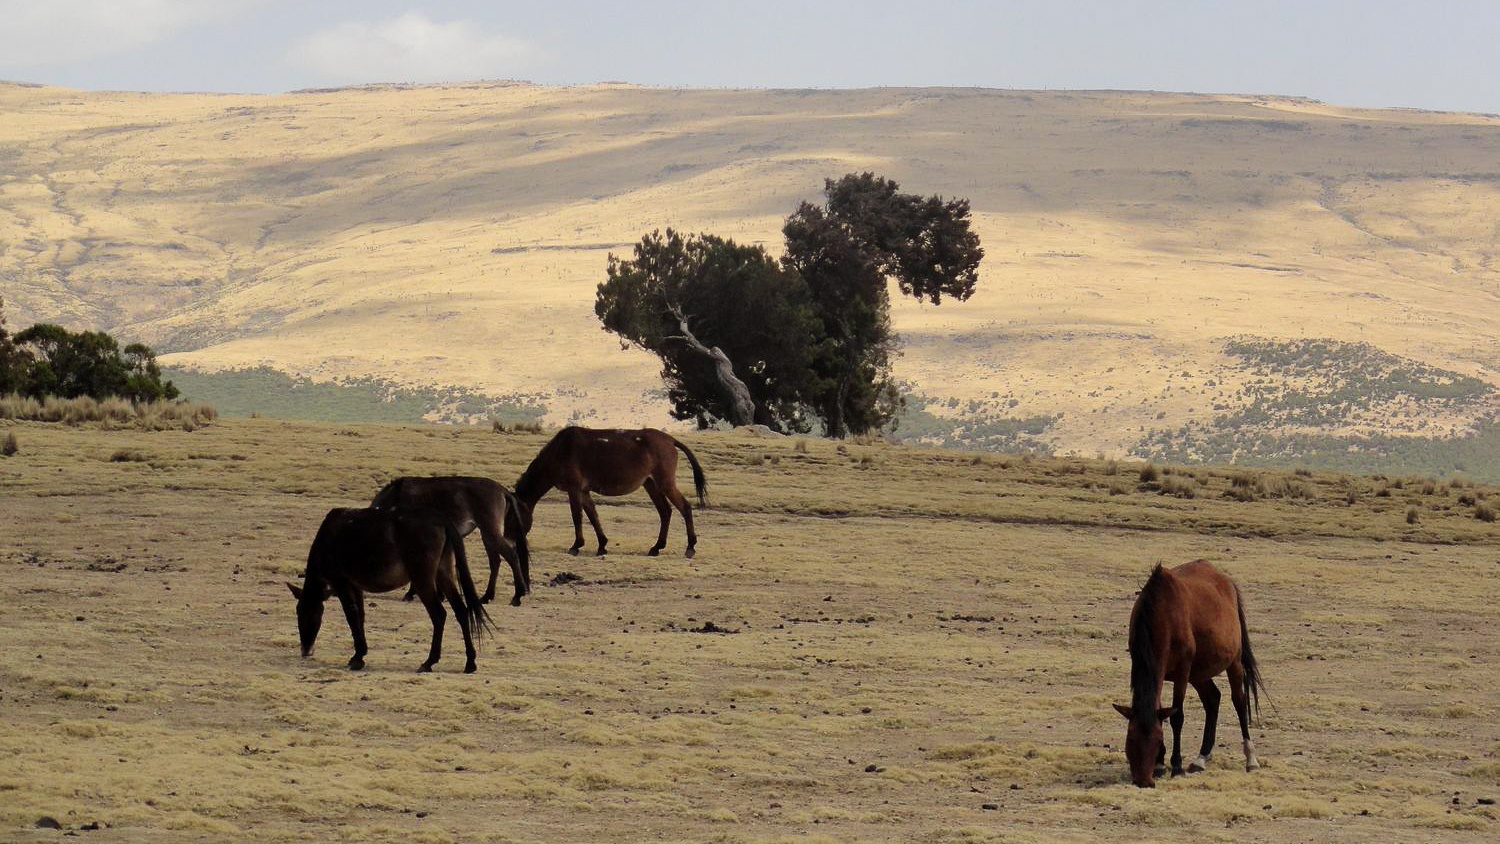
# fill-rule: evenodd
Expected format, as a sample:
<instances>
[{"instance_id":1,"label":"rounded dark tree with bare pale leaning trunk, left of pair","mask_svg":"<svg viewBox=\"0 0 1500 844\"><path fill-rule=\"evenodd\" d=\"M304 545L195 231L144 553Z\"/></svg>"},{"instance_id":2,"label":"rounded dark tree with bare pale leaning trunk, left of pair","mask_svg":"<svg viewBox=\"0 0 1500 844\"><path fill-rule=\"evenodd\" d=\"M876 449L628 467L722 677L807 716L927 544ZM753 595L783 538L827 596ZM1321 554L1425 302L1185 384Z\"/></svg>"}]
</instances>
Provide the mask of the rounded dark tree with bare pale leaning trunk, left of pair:
<instances>
[{"instance_id":1,"label":"rounded dark tree with bare pale leaning trunk, left of pair","mask_svg":"<svg viewBox=\"0 0 1500 844\"><path fill-rule=\"evenodd\" d=\"M819 319L807 288L760 246L651 232L609 256L594 312L662 358L672 415L807 430Z\"/></svg>"}]
</instances>

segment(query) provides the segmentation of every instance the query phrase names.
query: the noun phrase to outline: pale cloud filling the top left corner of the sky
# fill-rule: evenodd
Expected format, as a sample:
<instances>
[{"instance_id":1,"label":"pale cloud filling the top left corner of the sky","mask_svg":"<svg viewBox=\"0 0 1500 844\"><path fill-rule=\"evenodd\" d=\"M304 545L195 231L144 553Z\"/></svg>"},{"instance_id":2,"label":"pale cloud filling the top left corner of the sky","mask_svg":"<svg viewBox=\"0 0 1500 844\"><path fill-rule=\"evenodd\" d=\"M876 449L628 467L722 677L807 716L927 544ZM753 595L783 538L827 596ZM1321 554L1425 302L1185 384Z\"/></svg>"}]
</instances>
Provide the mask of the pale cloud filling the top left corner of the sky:
<instances>
[{"instance_id":1,"label":"pale cloud filling the top left corner of the sky","mask_svg":"<svg viewBox=\"0 0 1500 844\"><path fill-rule=\"evenodd\" d=\"M128 52L246 0L0 0L0 66L24 69Z\"/></svg>"}]
</instances>

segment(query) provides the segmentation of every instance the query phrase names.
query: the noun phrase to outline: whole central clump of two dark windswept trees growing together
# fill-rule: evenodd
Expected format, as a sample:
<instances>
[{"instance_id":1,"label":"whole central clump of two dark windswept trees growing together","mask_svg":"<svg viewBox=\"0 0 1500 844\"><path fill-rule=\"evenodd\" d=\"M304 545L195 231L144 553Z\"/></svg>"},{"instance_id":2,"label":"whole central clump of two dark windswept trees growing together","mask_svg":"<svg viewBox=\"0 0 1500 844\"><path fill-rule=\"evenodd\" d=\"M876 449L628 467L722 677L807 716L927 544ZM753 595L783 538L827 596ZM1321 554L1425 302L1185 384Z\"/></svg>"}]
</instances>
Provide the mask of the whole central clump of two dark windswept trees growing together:
<instances>
[{"instance_id":1,"label":"whole central clump of two dark windswept trees growing together","mask_svg":"<svg viewBox=\"0 0 1500 844\"><path fill-rule=\"evenodd\" d=\"M888 424L898 337L888 282L940 304L978 283L969 202L902 193L873 174L825 183L783 226L786 253L668 229L610 255L594 312L604 328L662 358L672 412L699 424L752 421L828 436Z\"/></svg>"}]
</instances>

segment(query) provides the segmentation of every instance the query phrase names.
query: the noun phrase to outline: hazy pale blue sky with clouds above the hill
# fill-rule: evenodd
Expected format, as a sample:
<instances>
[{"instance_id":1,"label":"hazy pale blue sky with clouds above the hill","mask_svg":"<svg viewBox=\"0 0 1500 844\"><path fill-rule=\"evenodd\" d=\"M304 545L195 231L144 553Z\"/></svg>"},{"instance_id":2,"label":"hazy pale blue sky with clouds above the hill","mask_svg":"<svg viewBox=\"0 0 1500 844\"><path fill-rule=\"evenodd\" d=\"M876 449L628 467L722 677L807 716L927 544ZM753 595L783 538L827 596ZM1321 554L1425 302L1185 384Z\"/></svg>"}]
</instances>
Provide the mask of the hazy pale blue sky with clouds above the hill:
<instances>
[{"instance_id":1,"label":"hazy pale blue sky with clouds above the hill","mask_svg":"<svg viewBox=\"0 0 1500 844\"><path fill-rule=\"evenodd\" d=\"M1496 0L0 0L0 79L986 85L1500 112Z\"/></svg>"}]
</instances>

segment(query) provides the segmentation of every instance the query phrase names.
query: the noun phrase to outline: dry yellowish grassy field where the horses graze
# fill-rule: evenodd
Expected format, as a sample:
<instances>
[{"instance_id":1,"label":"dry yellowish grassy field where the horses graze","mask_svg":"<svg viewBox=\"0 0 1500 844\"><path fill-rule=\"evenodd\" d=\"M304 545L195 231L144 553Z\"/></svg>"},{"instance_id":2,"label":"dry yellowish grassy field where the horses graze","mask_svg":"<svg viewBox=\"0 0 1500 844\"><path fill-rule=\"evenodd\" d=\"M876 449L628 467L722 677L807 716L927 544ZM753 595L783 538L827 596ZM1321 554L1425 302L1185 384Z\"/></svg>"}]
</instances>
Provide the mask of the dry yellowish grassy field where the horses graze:
<instances>
[{"instance_id":1,"label":"dry yellowish grassy field where the horses graze","mask_svg":"<svg viewBox=\"0 0 1500 844\"><path fill-rule=\"evenodd\" d=\"M514 480L540 435L4 423L0 838L52 841L1480 841L1500 813L1500 489L700 435L696 559L570 558L450 625L374 595L344 670L292 601L322 513L400 474ZM123 454L123 457L122 457ZM1191 498L1188 498L1191 496ZM1245 499L1245 501L1242 501ZM1413 516L1414 513L1414 516ZM472 538L471 538L472 540ZM470 543L471 558L478 543ZM1245 774L1137 790L1125 624L1158 561L1244 586L1270 703ZM580 580L552 586L562 573ZM504 589L502 589L504 592ZM706 622L729 633L694 633ZM458 655L458 657L456 657ZM1190 697L1185 739L1202 711ZM993 808L986 808L993 807Z\"/></svg>"}]
</instances>

